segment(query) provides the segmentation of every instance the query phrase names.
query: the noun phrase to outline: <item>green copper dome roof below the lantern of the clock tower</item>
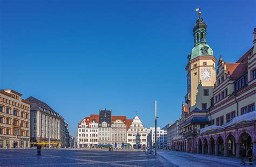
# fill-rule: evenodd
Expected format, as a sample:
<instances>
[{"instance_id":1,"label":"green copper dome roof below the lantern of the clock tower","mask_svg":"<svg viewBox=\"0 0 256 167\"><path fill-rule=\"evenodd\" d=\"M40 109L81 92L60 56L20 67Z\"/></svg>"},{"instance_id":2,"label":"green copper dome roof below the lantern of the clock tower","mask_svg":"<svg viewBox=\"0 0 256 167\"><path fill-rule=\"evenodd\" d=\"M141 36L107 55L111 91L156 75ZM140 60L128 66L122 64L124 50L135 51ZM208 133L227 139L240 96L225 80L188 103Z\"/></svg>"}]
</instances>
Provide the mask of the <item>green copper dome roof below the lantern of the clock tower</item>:
<instances>
[{"instance_id":1,"label":"green copper dome roof below the lantern of the clock tower","mask_svg":"<svg viewBox=\"0 0 256 167\"><path fill-rule=\"evenodd\" d=\"M192 49L189 60L193 60L199 56L213 56L213 51L206 43L199 43Z\"/></svg>"}]
</instances>

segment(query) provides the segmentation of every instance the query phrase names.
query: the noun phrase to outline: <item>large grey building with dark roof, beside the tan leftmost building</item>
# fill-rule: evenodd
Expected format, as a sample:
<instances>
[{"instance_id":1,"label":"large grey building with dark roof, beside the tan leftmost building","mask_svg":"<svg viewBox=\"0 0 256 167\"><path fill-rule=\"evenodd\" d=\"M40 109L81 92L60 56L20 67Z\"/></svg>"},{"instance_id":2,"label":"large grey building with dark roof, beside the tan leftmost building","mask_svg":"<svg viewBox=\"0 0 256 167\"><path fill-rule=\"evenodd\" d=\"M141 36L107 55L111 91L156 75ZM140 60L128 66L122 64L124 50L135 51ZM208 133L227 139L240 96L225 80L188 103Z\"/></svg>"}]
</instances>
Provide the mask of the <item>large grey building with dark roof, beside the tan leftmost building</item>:
<instances>
[{"instance_id":1,"label":"large grey building with dark roof, beside the tan leftmost building","mask_svg":"<svg viewBox=\"0 0 256 167\"><path fill-rule=\"evenodd\" d=\"M48 104L35 97L26 99L30 102L30 135L31 144L36 143L57 143L57 147L65 147L65 122L64 118L55 112ZM43 147L48 147L43 145Z\"/></svg>"}]
</instances>

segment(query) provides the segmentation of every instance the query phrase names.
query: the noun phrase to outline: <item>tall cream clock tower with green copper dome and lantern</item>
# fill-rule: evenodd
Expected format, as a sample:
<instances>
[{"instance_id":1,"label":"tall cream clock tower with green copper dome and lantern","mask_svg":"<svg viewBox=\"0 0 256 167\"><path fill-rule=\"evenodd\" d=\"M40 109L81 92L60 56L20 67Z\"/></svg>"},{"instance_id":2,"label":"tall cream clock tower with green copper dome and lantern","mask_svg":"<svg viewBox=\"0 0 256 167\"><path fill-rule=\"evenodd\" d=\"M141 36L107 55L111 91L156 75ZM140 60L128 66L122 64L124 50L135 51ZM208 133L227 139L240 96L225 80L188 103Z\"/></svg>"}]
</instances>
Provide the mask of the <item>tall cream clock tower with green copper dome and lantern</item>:
<instances>
[{"instance_id":1,"label":"tall cream clock tower with green copper dome and lantern","mask_svg":"<svg viewBox=\"0 0 256 167\"><path fill-rule=\"evenodd\" d=\"M206 43L206 28L207 25L199 15L193 28L194 47L191 54L187 56L185 101L188 105L188 113L193 110L207 110L211 106L217 60L213 55L213 50Z\"/></svg>"}]
</instances>

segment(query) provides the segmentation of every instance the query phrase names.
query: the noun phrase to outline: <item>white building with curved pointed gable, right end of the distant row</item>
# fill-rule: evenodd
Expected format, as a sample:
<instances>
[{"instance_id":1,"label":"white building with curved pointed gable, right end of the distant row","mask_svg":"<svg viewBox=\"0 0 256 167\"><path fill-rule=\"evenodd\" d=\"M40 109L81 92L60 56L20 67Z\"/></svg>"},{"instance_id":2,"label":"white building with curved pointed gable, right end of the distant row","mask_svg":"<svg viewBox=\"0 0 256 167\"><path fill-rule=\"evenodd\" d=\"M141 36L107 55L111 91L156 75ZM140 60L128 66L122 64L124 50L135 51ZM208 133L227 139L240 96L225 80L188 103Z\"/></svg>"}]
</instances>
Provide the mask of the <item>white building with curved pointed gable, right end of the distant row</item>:
<instances>
[{"instance_id":1,"label":"white building with curved pointed gable, right end of the distant row","mask_svg":"<svg viewBox=\"0 0 256 167\"><path fill-rule=\"evenodd\" d=\"M138 115L134 117L127 129L127 144L133 149L145 149L147 147L147 129L143 126Z\"/></svg>"}]
</instances>

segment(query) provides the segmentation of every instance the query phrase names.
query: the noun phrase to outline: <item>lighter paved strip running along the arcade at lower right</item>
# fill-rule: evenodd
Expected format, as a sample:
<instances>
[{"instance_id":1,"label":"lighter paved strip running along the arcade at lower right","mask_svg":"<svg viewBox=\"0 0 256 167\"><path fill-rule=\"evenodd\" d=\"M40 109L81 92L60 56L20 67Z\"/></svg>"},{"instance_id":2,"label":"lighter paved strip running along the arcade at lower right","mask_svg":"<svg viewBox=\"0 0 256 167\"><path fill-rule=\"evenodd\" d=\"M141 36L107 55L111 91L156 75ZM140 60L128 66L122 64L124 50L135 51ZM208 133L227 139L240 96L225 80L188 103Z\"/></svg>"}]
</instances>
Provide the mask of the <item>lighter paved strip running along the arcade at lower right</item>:
<instances>
[{"instance_id":1,"label":"lighter paved strip running along the arcade at lower right","mask_svg":"<svg viewBox=\"0 0 256 167\"><path fill-rule=\"evenodd\" d=\"M159 150L158 156L164 157L170 164L176 166L193 167L193 166L244 166L241 165L241 159L234 157L214 156L205 154L190 154L177 151ZM249 161L245 158L246 165L249 166ZM256 163L253 162L253 167Z\"/></svg>"}]
</instances>

